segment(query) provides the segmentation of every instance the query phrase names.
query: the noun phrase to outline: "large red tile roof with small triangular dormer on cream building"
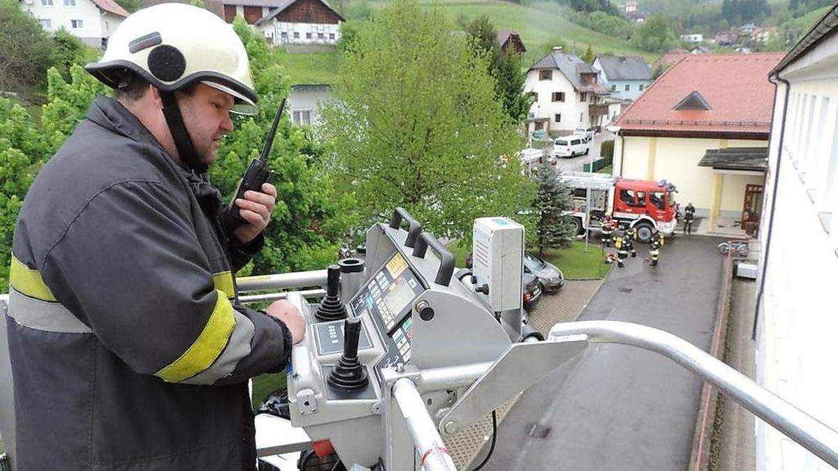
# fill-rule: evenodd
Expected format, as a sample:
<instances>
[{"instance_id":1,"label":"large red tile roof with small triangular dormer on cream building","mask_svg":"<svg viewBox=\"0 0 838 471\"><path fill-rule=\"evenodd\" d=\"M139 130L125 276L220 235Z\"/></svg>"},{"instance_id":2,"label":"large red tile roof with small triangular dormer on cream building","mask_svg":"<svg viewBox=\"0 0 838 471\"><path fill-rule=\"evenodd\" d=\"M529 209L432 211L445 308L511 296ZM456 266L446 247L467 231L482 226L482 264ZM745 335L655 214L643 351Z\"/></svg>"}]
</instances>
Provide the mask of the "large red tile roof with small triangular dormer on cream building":
<instances>
[{"instance_id":1,"label":"large red tile roof with small triangular dormer on cream building","mask_svg":"<svg viewBox=\"0 0 838 471\"><path fill-rule=\"evenodd\" d=\"M768 71L784 54L691 54L666 70L623 111L621 132L768 134L774 86ZM709 111L676 111L698 91Z\"/></svg>"}]
</instances>

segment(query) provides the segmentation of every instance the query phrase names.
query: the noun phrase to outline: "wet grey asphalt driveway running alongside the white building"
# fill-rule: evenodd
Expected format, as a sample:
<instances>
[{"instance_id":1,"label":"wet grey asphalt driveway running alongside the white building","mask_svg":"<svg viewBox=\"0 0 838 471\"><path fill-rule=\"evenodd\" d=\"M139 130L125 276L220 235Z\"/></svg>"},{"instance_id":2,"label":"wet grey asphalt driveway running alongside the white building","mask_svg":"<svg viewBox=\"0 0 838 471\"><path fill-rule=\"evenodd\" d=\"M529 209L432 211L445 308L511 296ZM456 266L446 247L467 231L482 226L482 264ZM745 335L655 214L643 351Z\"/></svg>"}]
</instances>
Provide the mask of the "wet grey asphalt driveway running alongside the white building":
<instances>
[{"instance_id":1,"label":"wet grey asphalt driveway running alongside the white building","mask_svg":"<svg viewBox=\"0 0 838 471\"><path fill-rule=\"evenodd\" d=\"M709 349L719 241L676 238L654 269L643 262L647 246L639 245L639 256L614 268L580 320L643 323ZM671 360L624 345L590 347L525 392L500 425L485 469L685 469L700 394L701 381ZM528 437L534 423L551 432Z\"/></svg>"}]
</instances>

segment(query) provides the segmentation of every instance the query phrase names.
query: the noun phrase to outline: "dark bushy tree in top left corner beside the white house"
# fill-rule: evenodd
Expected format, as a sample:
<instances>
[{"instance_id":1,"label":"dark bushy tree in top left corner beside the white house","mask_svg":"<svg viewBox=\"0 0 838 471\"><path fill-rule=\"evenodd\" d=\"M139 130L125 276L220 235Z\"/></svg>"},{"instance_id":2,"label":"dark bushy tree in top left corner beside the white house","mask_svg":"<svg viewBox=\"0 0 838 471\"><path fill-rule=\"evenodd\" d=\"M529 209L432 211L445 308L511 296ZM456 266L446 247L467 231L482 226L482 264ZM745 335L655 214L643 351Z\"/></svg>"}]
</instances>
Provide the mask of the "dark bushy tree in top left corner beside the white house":
<instances>
[{"instance_id":1,"label":"dark bushy tree in top left corner beside the white house","mask_svg":"<svg viewBox=\"0 0 838 471\"><path fill-rule=\"evenodd\" d=\"M43 91L54 42L18 2L0 0L0 90Z\"/></svg>"}]
</instances>

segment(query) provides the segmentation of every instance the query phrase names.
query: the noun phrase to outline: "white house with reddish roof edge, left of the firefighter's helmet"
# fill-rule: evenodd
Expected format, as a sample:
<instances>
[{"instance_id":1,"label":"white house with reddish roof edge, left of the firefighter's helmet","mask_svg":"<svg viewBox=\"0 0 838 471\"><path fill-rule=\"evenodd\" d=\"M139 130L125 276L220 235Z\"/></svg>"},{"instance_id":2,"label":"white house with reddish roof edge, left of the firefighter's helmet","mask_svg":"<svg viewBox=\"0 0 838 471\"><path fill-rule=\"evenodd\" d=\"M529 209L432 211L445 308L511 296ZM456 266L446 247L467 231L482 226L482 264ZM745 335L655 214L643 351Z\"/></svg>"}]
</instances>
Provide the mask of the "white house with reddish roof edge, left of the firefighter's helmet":
<instances>
[{"instance_id":1,"label":"white house with reddish roof edge, left of the firefighter's helmet","mask_svg":"<svg viewBox=\"0 0 838 471\"><path fill-rule=\"evenodd\" d=\"M88 46L104 48L128 16L113 0L19 0L18 5L49 32L65 28Z\"/></svg>"}]
</instances>

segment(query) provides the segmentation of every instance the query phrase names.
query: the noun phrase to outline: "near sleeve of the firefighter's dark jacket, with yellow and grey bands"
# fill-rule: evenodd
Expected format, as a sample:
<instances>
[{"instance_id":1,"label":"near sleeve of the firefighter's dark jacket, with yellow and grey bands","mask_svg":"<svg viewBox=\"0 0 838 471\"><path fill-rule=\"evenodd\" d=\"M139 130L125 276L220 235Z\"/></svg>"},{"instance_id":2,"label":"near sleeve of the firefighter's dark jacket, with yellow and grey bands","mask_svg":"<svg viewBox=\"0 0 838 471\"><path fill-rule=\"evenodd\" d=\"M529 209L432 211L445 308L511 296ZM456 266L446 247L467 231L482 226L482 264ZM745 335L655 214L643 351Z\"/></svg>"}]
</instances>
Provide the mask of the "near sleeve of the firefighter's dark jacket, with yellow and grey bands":
<instances>
[{"instance_id":1,"label":"near sleeve of the firefighter's dark jacket, with yellow and grey bands","mask_svg":"<svg viewBox=\"0 0 838 471\"><path fill-rule=\"evenodd\" d=\"M282 368L287 327L215 289L188 210L160 185L124 182L92 199L44 256L55 298L132 370L227 384Z\"/></svg>"}]
</instances>

